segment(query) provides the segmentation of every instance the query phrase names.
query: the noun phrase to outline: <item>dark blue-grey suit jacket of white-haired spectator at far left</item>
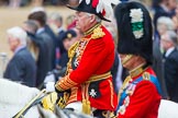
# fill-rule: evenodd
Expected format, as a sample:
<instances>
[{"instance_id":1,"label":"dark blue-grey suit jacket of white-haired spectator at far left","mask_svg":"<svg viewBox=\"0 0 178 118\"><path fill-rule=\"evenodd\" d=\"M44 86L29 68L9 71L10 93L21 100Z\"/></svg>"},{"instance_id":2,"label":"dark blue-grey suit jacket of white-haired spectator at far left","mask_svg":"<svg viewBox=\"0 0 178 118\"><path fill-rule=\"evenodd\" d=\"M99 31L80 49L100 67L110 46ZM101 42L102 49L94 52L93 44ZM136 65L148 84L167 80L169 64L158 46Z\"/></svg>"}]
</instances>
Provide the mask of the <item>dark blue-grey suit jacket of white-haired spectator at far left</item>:
<instances>
[{"instance_id":1,"label":"dark blue-grey suit jacket of white-haired spectator at far left","mask_svg":"<svg viewBox=\"0 0 178 118\"><path fill-rule=\"evenodd\" d=\"M20 49L8 63L4 78L20 81L27 86L36 84L36 64L30 51L24 47Z\"/></svg>"}]
</instances>

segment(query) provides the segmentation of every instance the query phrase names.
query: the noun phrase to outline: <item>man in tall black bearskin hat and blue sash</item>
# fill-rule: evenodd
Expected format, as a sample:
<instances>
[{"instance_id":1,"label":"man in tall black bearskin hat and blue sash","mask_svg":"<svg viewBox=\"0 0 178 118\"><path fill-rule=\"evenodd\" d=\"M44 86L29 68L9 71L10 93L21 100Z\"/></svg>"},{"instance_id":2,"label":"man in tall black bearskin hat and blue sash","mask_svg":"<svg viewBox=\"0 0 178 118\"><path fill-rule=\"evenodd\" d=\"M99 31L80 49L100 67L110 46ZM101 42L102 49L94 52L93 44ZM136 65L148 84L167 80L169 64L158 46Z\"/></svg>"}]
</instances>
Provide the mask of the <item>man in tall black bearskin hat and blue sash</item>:
<instances>
[{"instance_id":1,"label":"man in tall black bearskin hat and blue sash","mask_svg":"<svg viewBox=\"0 0 178 118\"><path fill-rule=\"evenodd\" d=\"M116 5L118 51L130 75L119 93L118 118L157 118L160 90L152 64L152 20L137 2Z\"/></svg>"}]
</instances>

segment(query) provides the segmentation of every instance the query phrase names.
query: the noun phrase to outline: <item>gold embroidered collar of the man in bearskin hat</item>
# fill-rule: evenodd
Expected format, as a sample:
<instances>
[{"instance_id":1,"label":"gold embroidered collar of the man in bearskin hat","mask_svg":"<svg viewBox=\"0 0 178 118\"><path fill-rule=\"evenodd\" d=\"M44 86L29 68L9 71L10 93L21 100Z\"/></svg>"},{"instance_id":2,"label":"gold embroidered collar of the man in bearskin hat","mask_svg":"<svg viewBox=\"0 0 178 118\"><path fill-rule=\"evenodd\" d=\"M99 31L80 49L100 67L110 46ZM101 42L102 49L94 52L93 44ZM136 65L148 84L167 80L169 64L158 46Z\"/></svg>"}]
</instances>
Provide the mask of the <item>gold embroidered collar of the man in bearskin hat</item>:
<instances>
[{"instance_id":1,"label":"gold embroidered collar of the man in bearskin hat","mask_svg":"<svg viewBox=\"0 0 178 118\"><path fill-rule=\"evenodd\" d=\"M140 64L138 67L136 67L135 69L130 71L130 75L131 78L140 75L143 71L145 71L147 69L147 67L145 67L145 63Z\"/></svg>"}]
</instances>

